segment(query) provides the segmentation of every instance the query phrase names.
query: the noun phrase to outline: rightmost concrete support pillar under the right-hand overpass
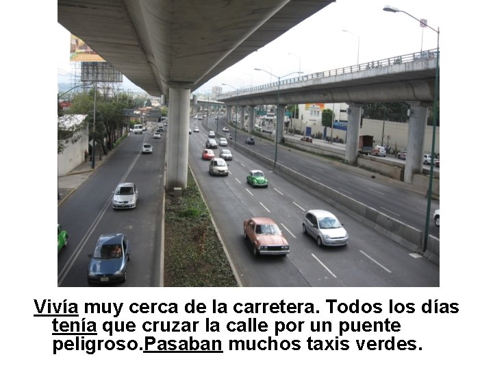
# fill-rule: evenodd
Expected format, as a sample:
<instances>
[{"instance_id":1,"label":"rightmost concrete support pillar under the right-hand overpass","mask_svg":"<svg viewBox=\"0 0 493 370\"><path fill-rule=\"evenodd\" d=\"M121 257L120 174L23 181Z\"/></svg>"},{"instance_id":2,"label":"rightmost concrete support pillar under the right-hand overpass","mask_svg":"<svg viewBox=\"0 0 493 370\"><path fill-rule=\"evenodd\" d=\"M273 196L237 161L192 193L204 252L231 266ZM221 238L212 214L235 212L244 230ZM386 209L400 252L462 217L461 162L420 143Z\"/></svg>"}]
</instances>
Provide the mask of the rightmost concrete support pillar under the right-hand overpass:
<instances>
[{"instance_id":1,"label":"rightmost concrete support pillar under the right-hand overpass","mask_svg":"<svg viewBox=\"0 0 493 370\"><path fill-rule=\"evenodd\" d=\"M404 168L404 182L412 184L415 173L422 173L425 132L428 119L428 106L419 101L408 101L411 105L407 128L407 156Z\"/></svg>"}]
</instances>

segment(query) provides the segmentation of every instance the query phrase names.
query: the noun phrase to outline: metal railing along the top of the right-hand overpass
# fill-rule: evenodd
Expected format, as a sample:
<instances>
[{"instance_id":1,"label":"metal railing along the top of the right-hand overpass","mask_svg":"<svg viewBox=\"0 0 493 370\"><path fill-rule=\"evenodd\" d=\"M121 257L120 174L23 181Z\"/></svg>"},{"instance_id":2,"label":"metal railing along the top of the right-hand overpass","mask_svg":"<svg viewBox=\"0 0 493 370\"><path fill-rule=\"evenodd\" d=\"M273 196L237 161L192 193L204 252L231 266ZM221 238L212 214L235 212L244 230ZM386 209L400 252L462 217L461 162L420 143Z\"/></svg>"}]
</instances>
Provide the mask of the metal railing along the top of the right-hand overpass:
<instances>
[{"instance_id":1,"label":"metal railing along the top of the right-hand overpass","mask_svg":"<svg viewBox=\"0 0 493 370\"><path fill-rule=\"evenodd\" d=\"M266 88L277 87L279 84L280 84L280 86L283 86L283 85L288 85L288 84L295 84L296 82L307 81L309 79L316 79L316 78L322 78L322 77L332 77L332 76L337 76L337 75L344 75L346 73L355 73L355 72L359 72L359 71L367 71L368 69L381 68L384 66L391 66L394 64L404 64L404 63L409 63L409 62L416 62L416 60L423 60L423 59L430 59L430 58L434 59L437 57L437 53L438 53L438 49L418 51L417 53L405 54L403 56L395 56L392 58L385 58L385 59L381 59L381 60L374 60L372 62L360 63L360 64L353 65L353 66L346 66L343 68L331 69L329 71L316 72L316 73L311 73L309 75L302 75L299 77L282 79L280 82L271 82L270 84L264 84L264 85L260 85L260 86L251 86L248 88L240 88L240 89L238 89L238 91L221 94L219 99L237 97L237 95L240 93L253 93L256 90L263 90Z\"/></svg>"}]
</instances>

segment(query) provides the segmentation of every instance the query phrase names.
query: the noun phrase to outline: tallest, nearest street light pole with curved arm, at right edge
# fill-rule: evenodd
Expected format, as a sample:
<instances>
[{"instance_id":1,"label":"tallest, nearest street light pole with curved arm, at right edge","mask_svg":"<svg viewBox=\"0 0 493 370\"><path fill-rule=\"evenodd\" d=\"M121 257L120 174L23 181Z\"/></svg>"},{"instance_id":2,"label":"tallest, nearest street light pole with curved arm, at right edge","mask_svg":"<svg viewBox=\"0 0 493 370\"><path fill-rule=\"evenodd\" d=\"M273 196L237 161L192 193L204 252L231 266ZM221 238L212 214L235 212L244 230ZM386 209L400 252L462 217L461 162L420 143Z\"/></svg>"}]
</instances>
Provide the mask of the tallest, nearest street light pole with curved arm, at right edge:
<instances>
[{"instance_id":1,"label":"tallest, nearest street light pole with curved arm, at right edge","mask_svg":"<svg viewBox=\"0 0 493 370\"><path fill-rule=\"evenodd\" d=\"M415 16L412 16L411 14L405 12L404 10L399 10L397 8L394 8L390 5L385 5L385 8L383 8L385 12L392 12L392 13L398 13L402 12L410 16L411 18L416 19L420 23L420 25L423 27L422 21ZM423 249L422 253L425 253L427 251L427 246L428 246L428 235L429 235L429 222L430 222L430 212L431 212L431 195L432 195L432 190L433 190L433 167L435 164L434 157L435 157L435 133L436 133L436 119L437 119L437 111L438 111L438 78L439 78L439 69L440 69L440 27L437 29L434 29L433 27L430 27L427 23L425 24L425 27L428 27L432 31L435 31L437 34L437 57L436 57L436 65L435 65L435 96L433 97L433 137L431 138L431 163L430 163L430 175L429 175L429 183L428 183L428 199L427 199L427 217L426 217L426 223L425 223L425 235L423 238Z\"/></svg>"}]
</instances>

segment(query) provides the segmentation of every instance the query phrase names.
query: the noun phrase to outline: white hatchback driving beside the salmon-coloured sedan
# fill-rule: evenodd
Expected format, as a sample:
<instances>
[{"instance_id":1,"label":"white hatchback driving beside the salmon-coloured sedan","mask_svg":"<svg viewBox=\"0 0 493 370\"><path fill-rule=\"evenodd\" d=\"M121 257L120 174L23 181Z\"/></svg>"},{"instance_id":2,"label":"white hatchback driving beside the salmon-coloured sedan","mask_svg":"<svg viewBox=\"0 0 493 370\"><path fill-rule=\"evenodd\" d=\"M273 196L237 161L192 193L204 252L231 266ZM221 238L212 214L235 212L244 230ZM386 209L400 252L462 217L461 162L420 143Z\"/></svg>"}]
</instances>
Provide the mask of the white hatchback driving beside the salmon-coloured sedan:
<instances>
[{"instance_id":1,"label":"white hatchback driving beside the salmon-coloured sedan","mask_svg":"<svg viewBox=\"0 0 493 370\"><path fill-rule=\"evenodd\" d=\"M312 236L319 247L347 245L349 235L336 216L326 210L309 210L303 217L303 233Z\"/></svg>"}]
</instances>

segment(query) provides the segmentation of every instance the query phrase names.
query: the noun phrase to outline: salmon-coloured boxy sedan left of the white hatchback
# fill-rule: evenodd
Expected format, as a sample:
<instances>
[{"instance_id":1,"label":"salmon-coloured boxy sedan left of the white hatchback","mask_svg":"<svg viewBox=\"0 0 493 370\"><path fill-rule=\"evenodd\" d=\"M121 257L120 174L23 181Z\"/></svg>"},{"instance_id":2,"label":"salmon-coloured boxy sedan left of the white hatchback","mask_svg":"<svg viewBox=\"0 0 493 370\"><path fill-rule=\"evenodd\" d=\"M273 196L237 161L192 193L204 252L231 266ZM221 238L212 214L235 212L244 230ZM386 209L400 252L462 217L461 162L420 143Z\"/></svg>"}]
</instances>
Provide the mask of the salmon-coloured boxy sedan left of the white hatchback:
<instances>
[{"instance_id":1,"label":"salmon-coloured boxy sedan left of the white hatchback","mask_svg":"<svg viewBox=\"0 0 493 370\"><path fill-rule=\"evenodd\" d=\"M289 253L289 243L279 226L267 217L252 217L243 221L243 235L253 249L253 255L283 255Z\"/></svg>"}]
</instances>

